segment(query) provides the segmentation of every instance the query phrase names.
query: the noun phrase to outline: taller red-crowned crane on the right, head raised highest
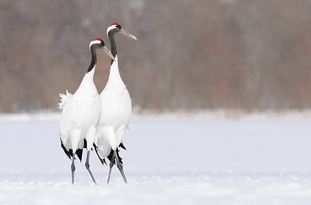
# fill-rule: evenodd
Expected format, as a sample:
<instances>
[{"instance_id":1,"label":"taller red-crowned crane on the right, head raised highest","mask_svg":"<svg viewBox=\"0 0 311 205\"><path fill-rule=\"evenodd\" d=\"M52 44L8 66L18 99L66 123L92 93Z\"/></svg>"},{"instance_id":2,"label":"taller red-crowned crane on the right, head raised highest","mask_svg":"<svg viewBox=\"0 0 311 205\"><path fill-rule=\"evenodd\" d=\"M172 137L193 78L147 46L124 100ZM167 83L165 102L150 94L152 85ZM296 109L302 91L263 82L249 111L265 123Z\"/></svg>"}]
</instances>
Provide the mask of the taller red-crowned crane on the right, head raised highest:
<instances>
[{"instance_id":1,"label":"taller red-crowned crane on the right, head raised highest","mask_svg":"<svg viewBox=\"0 0 311 205\"><path fill-rule=\"evenodd\" d=\"M111 60L109 79L106 87L100 94L101 117L97 132L98 141L97 145L95 145L96 152L101 162L104 164L105 157L108 157L110 160L107 184L109 183L111 169L115 161L123 180L127 183L127 179L123 173L123 167L117 153L117 148L119 146L123 147L121 144L123 134L125 133L125 129L128 127L132 116L132 100L119 73L117 49L114 41L115 33L122 33L137 40L135 36L123 29L118 23L112 23L107 28L110 49L113 57L115 57L115 61ZM110 155L110 153L112 155Z\"/></svg>"}]
</instances>

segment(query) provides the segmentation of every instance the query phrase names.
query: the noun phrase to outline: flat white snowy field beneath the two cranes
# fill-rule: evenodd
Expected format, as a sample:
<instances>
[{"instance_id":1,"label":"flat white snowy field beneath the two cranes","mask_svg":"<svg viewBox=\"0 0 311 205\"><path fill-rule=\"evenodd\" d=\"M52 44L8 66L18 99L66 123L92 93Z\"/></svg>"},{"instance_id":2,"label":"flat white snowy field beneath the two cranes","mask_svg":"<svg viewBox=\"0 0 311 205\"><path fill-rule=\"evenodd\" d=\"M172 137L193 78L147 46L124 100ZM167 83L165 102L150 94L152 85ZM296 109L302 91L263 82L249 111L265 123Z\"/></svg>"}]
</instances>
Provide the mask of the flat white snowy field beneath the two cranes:
<instances>
[{"instance_id":1,"label":"flat white snowy field beneath the two cranes","mask_svg":"<svg viewBox=\"0 0 311 205\"><path fill-rule=\"evenodd\" d=\"M311 118L134 116L129 184L91 152L94 186L60 147L59 114L0 116L0 204L311 204Z\"/></svg>"}]
</instances>

